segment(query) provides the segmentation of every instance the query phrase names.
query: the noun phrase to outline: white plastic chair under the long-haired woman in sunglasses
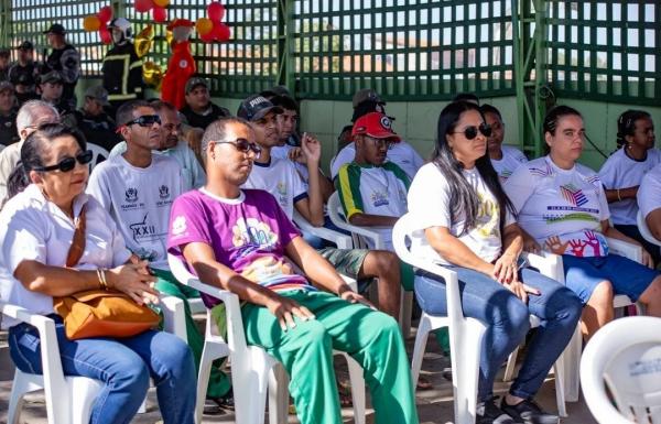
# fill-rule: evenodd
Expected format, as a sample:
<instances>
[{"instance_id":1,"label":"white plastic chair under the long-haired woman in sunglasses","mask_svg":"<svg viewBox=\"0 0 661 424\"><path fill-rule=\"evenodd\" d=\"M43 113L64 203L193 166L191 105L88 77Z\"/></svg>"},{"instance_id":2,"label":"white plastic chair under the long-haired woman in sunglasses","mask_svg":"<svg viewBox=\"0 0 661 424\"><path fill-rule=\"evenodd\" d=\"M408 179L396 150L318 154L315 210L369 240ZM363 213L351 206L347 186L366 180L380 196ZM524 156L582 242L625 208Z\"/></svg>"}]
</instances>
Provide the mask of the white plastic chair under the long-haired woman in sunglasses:
<instances>
[{"instance_id":1,"label":"white plastic chair under the long-haired woman in sunglasses","mask_svg":"<svg viewBox=\"0 0 661 424\"><path fill-rule=\"evenodd\" d=\"M459 283L455 272L411 253L407 238L415 229L415 224L411 214L405 214L397 221L392 229L394 250L402 261L445 280L447 316L432 316L422 313L411 360L413 385L415 387L418 383L429 333L437 328L448 327L455 424L474 424L477 405L479 356L486 327L479 320L464 316L459 297Z\"/></svg>"}]
</instances>

